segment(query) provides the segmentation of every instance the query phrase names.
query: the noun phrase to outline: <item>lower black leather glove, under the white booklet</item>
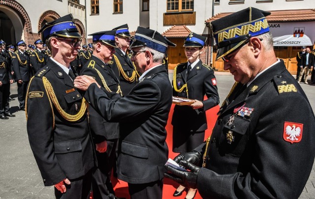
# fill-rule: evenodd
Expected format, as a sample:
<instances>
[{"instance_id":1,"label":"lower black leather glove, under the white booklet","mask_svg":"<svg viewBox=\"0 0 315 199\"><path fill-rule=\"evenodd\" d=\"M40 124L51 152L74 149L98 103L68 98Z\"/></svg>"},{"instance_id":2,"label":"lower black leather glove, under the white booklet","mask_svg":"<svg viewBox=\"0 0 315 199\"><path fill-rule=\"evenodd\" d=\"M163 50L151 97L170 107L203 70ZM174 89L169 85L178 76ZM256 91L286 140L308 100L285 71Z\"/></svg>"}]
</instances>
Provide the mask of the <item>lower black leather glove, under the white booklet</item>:
<instances>
[{"instance_id":1,"label":"lower black leather glove, under the white booklet","mask_svg":"<svg viewBox=\"0 0 315 199\"><path fill-rule=\"evenodd\" d=\"M169 165L165 165L165 169L171 173L164 173L164 177L170 178L179 184L196 189L197 188L197 176L200 167L197 167L187 161L180 161L180 164L190 171L177 170Z\"/></svg>"}]
</instances>

